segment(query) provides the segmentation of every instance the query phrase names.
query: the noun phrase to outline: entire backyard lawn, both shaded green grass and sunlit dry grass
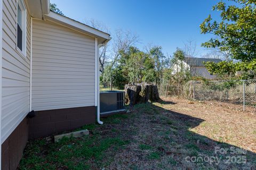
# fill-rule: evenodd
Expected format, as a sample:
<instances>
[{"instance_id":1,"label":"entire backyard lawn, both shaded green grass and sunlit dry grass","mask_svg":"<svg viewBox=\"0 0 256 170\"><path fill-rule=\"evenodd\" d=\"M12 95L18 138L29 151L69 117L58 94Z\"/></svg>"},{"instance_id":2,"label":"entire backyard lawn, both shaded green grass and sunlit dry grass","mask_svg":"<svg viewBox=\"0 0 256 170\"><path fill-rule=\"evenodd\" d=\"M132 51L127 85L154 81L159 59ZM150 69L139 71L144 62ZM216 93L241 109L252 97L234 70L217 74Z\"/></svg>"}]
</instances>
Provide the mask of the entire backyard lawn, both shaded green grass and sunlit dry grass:
<instances>
[{"instance_id":1,"label":"entire backyard lawn, both shaded green grass and sunlit dry grass","mask_svg":"<svg viewBox=\"0 0 256 170\"><path fill-rule=\"evenodd\" d=\"M83 138L28 142L19 169L256 168L256 115L178 98L130 109Z\"/></svg>"}]
</instances>

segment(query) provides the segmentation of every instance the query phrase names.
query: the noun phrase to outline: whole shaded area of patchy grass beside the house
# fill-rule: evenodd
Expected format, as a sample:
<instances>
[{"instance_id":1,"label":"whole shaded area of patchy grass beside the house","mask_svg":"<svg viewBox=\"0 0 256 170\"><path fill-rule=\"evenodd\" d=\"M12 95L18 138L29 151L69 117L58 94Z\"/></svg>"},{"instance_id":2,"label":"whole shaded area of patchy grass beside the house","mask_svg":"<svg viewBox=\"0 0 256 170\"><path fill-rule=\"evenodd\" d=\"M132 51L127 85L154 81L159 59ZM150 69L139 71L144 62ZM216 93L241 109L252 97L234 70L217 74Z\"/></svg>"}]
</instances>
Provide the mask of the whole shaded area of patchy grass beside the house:
<instances>
[{"instance_id":1,"label":"whole shaded area of patchy grass beside the house","mask_svg":"<svg viewBox=\"0 0 256 170\"><path fill-rule=\"evenodd\" d=\"M103 125L83 126L81 129L90 130L83 138L63 138L58 143L30 141L19 169L111 169L113 163L121 164L122 169L122 162L130 164L123 165L125 169L255 169L254 152L191 132L204 120L163 108L170 104L175 103L137 104L130 114L103 118ZM140 143L134 141L135 136L147 140ZM129 145L138 146L140 152L128 150ZM131 159L116 158L121 150L131 152Z\"/></svg>"}]
</instances>

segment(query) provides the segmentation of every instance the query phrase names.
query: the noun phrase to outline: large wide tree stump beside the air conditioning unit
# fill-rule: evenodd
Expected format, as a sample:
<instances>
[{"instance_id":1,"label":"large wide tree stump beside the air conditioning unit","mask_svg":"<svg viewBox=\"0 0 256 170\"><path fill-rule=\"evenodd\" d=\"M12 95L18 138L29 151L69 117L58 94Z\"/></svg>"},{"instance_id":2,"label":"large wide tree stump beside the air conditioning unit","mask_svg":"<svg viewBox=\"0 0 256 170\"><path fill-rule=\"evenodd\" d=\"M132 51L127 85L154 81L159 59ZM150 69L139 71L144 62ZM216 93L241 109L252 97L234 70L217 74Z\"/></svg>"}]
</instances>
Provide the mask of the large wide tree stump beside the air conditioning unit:
<instances>
[{"instance_id":1,"label":"large wide tree stump beside the air conditioning unit","mask_svg":"<svg viewBox=\"0 0 256 170\"><path fill-rule=\"evenodd\" d=\"M159 93L156 85L152 84L126 84L125 103L131 106L137 103L159 100Z\"/></svg>"}]
</instances>

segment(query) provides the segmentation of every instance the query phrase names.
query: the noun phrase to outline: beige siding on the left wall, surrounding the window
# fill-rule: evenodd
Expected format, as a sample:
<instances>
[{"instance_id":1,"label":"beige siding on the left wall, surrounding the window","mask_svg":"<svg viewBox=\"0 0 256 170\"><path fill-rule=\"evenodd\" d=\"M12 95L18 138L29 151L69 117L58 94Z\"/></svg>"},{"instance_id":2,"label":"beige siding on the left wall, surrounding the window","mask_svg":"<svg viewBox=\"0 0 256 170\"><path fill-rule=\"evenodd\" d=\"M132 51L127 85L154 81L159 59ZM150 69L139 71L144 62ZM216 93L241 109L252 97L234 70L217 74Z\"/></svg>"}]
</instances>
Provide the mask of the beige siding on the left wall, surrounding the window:
<instances>
[{"instance_id":1,"label":"beige siding on the left wall, surrounding the window","mask_svg":"<svg viewBox=\"0 0 256 170\"><path fill-rule=\"evenodd\" d=\"M15 1L3 0L2 22L2 142L4 142L29 112L30 15L27 13L26 58L16 49Z\"/></svg>"}]
</instances>

